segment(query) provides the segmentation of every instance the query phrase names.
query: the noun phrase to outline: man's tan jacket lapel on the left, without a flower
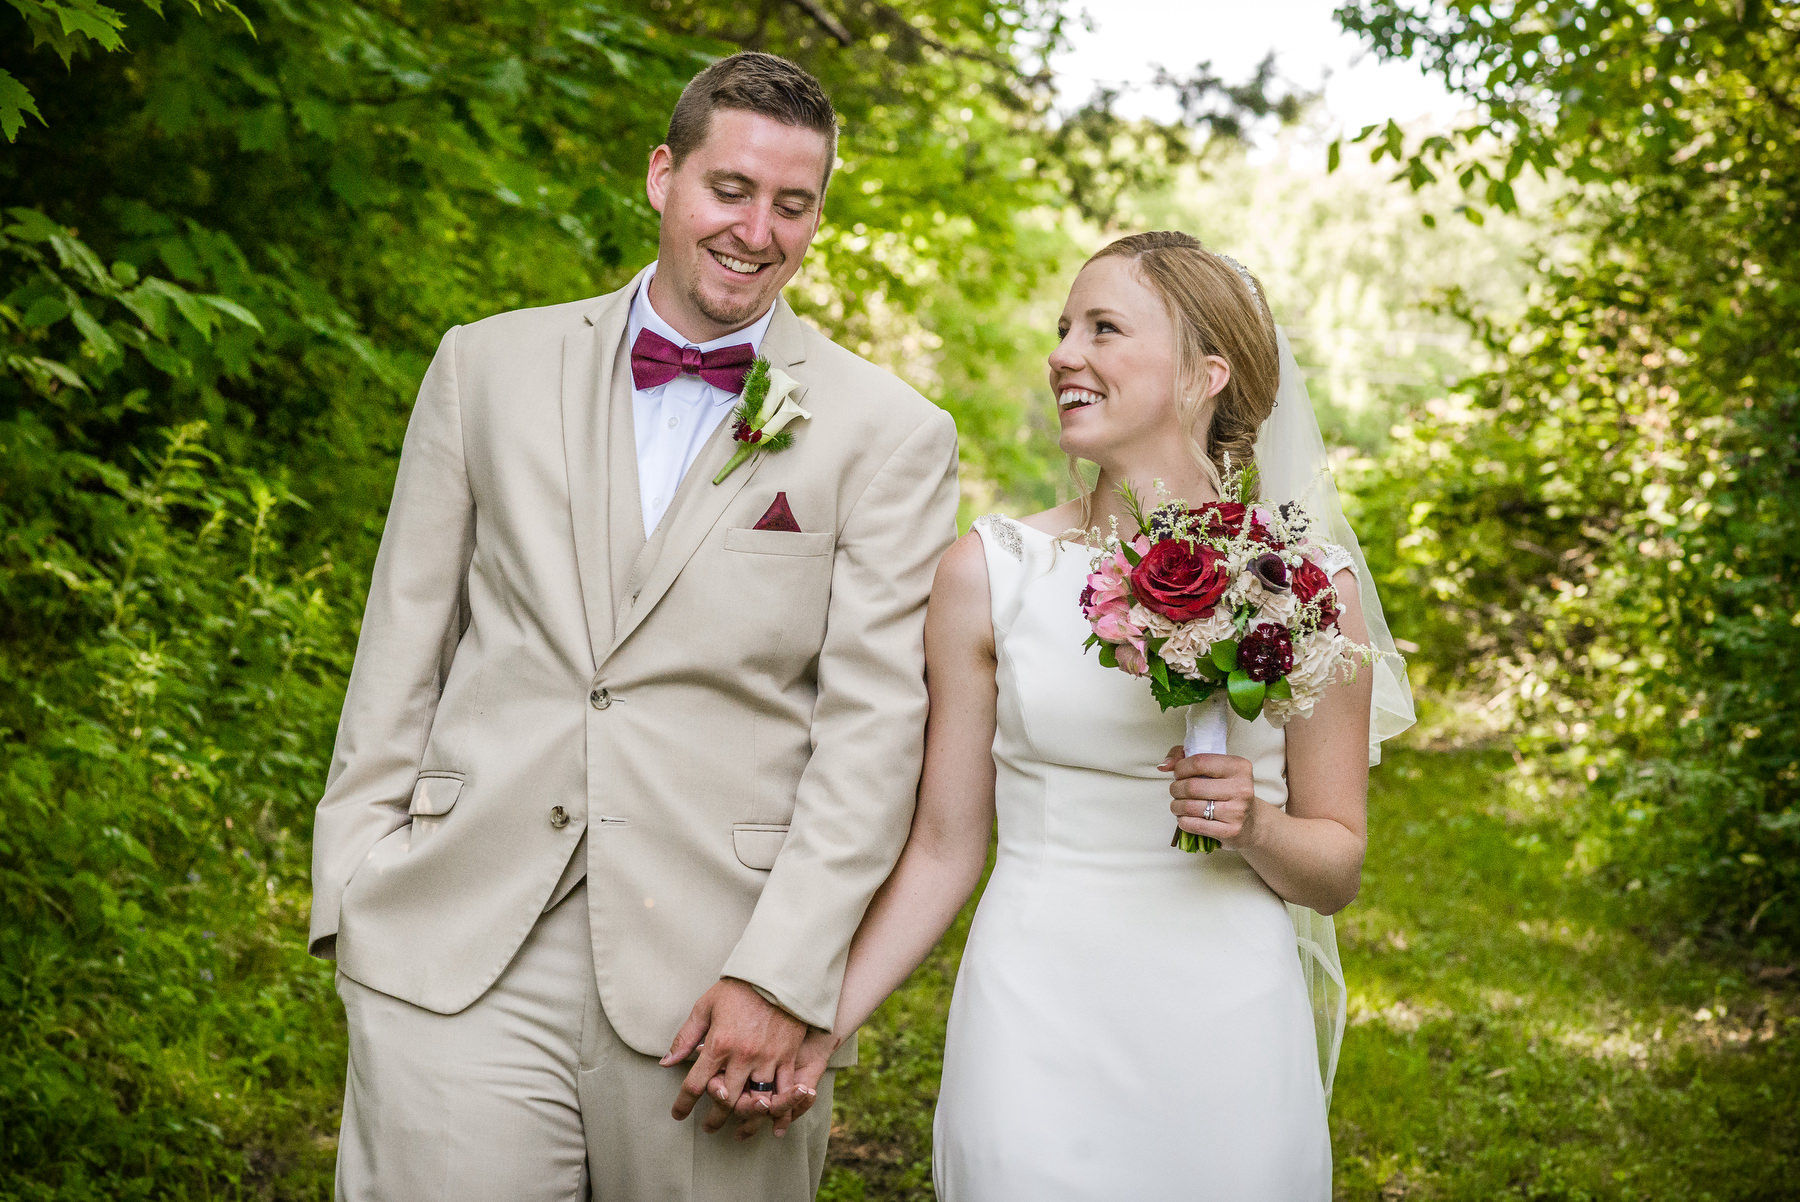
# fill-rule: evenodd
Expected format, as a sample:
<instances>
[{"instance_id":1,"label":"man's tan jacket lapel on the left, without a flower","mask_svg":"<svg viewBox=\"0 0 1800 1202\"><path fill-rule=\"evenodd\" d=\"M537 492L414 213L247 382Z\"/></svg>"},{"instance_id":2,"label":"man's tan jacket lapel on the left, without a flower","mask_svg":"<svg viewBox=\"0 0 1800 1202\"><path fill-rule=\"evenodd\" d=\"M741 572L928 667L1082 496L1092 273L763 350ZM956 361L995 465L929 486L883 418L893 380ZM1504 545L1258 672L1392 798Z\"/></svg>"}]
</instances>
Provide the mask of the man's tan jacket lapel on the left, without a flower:
<instances>
[{"instance_id":1,"label":"man's tan jacket lapel on the left, without a flower","mask_svg":"<svg viewBox=\"0 0 1800 1202\"><path fill-rule=\"evenodd\" d=\"M614 448L617 423L612 419L608 396L625 338L625 320L632 297L637 293L639 274L619 292L601 299L583 324L563 336L562 425L563 466L569 473L569 520L574 529L576 574L581 579L581 608L587 614L587 639L598 668L608 646L616 621L612 588L612 536L608 511L612 497L623 486L614 480L610 466L617 453L632 464L630 488L637 484L637 453L634 446ZM630 443L630 394L625 396L625 432ZM626 506L639 536L643 516L635 498Z\"/></svg>"}]
</instances>

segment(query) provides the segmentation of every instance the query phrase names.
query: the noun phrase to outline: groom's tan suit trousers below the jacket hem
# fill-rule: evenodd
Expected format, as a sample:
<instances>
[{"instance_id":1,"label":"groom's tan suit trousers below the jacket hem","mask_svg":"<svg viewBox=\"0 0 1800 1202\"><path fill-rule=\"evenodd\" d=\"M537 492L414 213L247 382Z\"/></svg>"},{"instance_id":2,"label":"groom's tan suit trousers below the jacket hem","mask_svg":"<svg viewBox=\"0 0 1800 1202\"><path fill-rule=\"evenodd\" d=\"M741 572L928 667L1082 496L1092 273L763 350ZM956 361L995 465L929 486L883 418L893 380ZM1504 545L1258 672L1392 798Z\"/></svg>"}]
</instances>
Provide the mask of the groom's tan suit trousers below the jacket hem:
<instances>
[{"instance_id":1,"label":"groom's tan suit trousers below the jacket hem","mask_svg":"<svg viewBox=\"0 0 1800 1202\"><path fill-rule=\"evenodd\" d=\"M763 1126L738 1143L731 1125L707 1135L706 1099L671 1119L686 1069L632 1051L607 1022L585 884L461 1013L337 981L349 1018L346 1202L805 1202L819 1189L832 1074L783 1139Z\"/></svg>"}]
</instances>

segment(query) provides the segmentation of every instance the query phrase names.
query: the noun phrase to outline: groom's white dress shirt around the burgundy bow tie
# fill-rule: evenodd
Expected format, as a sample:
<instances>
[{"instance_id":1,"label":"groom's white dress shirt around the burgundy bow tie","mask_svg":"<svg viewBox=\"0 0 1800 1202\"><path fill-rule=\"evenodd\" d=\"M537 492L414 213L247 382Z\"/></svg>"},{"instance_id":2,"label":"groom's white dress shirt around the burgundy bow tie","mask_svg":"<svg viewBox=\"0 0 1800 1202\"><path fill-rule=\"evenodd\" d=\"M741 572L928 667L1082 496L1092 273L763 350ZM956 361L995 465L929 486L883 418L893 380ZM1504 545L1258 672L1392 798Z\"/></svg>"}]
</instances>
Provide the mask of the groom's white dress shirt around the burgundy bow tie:
<instances>
[{"instance_id":1,"label":"groom's white dress shirt around the burgundy bow tie","mask_svg":"<svg viewBox=\"0 0 1800 1202\"><path fill-rule=\"evenodd\" d=\"M752 351L761 351L763 335L769 333L769 318L774 306L752 324L724 338L711 342L693 342L662 320L650 304L650 281L655 279L655 266L644 275L637 295L632 297L632 315L625 322L625 349L637 342L641 329L652 329L679 347L698 347L716 351L720 347L749 342ZM688 475L706 439L713 435L718 423L736 403L736 392L715 389L698 376L675 376L668 383L653 389L632 389L632 428L637 434L637 497L644 506L644 538L657 529L657 522L675 498L680 479Z\"/></svg>"}]
</instances>

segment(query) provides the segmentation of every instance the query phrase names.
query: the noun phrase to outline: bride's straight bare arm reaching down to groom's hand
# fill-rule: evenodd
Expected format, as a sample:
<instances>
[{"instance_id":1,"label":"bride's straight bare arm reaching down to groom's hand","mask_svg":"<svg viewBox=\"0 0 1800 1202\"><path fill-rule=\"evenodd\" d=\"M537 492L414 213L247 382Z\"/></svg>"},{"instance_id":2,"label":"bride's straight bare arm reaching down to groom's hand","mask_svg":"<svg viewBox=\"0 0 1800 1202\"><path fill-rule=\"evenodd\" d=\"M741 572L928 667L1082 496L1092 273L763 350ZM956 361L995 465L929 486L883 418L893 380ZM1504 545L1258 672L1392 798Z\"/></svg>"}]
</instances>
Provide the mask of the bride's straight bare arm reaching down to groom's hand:
<instances>
[{"instance_id":1,"label":"bride's straight bare arm reaching down to groom's hand","mask_svg":"<svg viewBox=\"0 0 1800 1202\"><path fill-rule=\"evenodd\" d=\"M981 880L994 830L994 621L979 534L958 540L925 612L925 767L913 833L850 943L832 1047L931 954Z\"/></svg>"}]
</instances>

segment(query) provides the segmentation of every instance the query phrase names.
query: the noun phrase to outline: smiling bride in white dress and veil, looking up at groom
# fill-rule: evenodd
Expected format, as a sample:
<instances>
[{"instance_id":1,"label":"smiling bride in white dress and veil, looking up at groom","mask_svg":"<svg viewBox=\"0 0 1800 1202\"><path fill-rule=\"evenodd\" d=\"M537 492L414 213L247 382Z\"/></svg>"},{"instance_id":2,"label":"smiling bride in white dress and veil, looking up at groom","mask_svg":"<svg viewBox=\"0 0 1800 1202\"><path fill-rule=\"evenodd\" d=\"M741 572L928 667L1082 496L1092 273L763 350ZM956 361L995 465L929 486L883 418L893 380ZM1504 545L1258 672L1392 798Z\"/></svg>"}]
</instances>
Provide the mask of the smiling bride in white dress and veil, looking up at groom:
<instances>
[{"instance_id":1,"label":"smiling bride in white dress and veil, looking up at groom","mask_svg":"<svg viewBox=\"0 0 1800 1202\"><path fill-rule=\"evenodd\" d=\"M1343 977L1321 916L1357 893L1368 765L1411 718L1404 675L1384 655L1310 718L1233 716L1229 754L1184 758L1181 713L1082 651L1091 552L1066 533L1127 524L1118 486L1201 504L1228 459L1255 457L1265 500L1303 498L1346 547L1328 565L1341 630L1393 644L1249 272L1186 234L1121 238L1057 329L1060 444L1098 480L1019 522L981 518L938 567L913 833L801 1078L943 936L997 817L950 1002L938 1197L1328 1198ZM1170 812L1224 849L1172 849Z\"/></svg>"}]
</instances>

